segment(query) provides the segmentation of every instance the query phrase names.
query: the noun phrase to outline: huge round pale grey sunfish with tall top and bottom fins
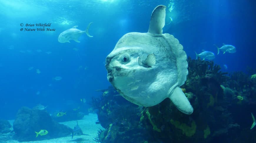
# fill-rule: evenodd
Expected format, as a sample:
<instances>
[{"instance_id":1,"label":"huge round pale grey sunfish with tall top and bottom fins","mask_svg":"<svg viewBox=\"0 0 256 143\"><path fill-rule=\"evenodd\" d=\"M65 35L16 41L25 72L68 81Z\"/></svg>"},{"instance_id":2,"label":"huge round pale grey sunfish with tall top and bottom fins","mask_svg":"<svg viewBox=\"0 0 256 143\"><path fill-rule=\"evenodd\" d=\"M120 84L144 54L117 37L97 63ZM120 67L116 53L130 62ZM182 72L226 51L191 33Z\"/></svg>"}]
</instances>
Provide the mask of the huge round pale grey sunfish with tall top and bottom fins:
<instances>
[{"instance_id":1,"label":"huge round pale grey sunfish with tall top and bottom fins","mask_svg":"<svg viewBox=\"0 0 256 143\"><path fill-rule=\"evenodd\" d=\"M157 6L147 33L122 36L106 57L107 79L128 101L149 107L170 98L183 113L193 108L180 86L188 74L187 54L178 39L162 34L166 6Z\"/></svg>"}]
</instances>

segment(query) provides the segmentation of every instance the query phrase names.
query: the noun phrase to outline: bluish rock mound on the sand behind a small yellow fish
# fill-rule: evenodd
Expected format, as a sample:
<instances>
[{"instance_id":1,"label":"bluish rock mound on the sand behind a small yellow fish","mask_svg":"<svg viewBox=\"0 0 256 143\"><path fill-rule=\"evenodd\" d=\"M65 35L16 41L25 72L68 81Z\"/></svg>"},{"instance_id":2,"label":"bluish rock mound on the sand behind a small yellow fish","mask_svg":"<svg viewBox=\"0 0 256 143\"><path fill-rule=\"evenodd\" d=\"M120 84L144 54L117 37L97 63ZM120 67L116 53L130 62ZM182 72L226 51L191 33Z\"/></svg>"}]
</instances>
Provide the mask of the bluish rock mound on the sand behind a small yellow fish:
<instances>
[{"instance_id":1,"label":"bluish rock mound on the sand behind a small yellow fish","mask_svg":"<svg viewBox=\"0 0 256 143\"><path fill-rule=\"evenodd\" d=\"M14 139L19 142L52 139L70 135L72 129L54 121L44 110L32 110L28 107L19 109L13 123ZM35 132L47 130L47 135L36 137Z\"/></svg>"}]
</instances>

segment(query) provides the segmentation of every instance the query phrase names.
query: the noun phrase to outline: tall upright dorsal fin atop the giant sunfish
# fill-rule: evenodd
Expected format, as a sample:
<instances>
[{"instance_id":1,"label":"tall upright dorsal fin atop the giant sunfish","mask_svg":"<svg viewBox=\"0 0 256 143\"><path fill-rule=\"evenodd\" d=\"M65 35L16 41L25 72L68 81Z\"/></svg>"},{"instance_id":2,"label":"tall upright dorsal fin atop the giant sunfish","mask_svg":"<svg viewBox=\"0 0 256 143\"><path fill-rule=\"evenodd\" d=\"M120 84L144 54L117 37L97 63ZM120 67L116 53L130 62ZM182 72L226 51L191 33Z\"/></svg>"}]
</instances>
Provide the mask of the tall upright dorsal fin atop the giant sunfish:
<instances>
[{"instance_id":1,"label":"tall upright dorsal fin atop the giant sunfish","mask_svg":"<svg viewBox=\"0 0 256 143\"><path fill-rule=\"evenodd\" d=\"M166 6L159 5L153 10L149 23L149 33L163 34L162 28L164 27L166 16L165 9Z\"/></svg>"}]
</instances>

